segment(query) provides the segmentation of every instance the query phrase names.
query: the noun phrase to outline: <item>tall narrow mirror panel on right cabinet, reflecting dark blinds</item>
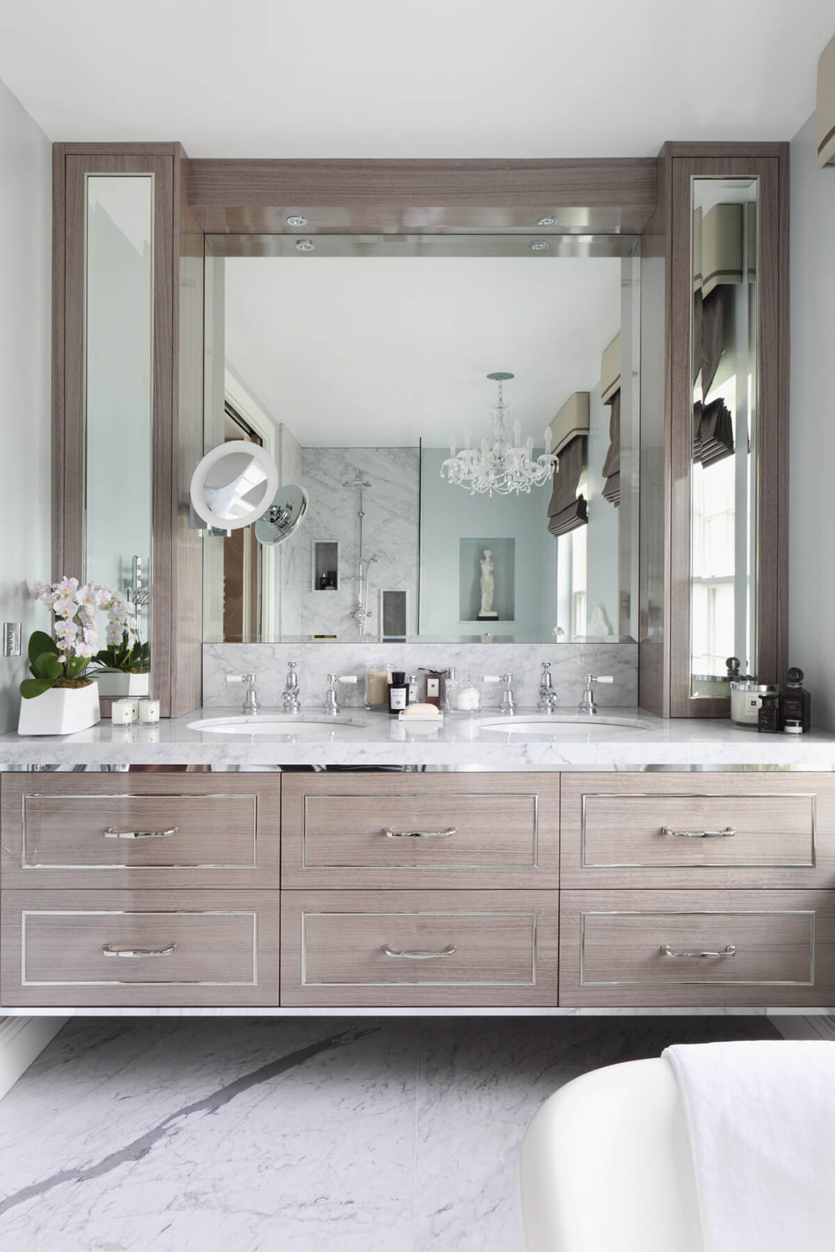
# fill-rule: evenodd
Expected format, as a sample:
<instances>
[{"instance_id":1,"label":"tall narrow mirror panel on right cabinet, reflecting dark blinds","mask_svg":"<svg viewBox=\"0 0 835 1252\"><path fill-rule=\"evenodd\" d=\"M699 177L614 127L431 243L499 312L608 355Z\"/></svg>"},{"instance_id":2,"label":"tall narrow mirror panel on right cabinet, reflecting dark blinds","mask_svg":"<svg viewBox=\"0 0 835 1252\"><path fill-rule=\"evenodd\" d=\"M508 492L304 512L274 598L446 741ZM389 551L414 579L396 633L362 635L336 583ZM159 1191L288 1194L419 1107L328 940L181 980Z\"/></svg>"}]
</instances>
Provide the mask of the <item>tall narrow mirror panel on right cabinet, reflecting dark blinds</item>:
<instances>
[{"instance_id":1,"label":"tall narrow mirror panel on right cabinet, reflecting dark blinds","mask_svg":"<svg viewBox=\"0 0 835 1252\"><path fill-rule=\"evenodd\" d=\"M756 178L692 179L691 697L755 674ZM735 669L731 665L731 670Z\"/></svg>"}]
</instances>

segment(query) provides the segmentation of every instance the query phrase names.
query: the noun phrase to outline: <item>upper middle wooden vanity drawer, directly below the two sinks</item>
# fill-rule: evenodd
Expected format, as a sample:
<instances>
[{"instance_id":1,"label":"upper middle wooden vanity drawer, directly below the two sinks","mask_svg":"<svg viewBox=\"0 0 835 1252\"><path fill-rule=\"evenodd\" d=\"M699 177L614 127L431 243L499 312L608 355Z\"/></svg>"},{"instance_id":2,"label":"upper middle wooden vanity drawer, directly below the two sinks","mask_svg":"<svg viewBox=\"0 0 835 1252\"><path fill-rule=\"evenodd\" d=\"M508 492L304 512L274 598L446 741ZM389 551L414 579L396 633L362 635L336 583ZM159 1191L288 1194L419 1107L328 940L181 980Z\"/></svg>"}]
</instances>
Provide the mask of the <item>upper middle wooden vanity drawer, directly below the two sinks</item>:
<instances>
[{"instance_id":1,"label":"upper middle wooden vanity drawer, directly below the two sinks","mask_svg":"<svg viewBox=\"0 0 835 1252\"><path fill-rule=\"evenodd\" d=\"M284 888L556 886L558 774L285 775Z\"/></svg>"}]
</instances>

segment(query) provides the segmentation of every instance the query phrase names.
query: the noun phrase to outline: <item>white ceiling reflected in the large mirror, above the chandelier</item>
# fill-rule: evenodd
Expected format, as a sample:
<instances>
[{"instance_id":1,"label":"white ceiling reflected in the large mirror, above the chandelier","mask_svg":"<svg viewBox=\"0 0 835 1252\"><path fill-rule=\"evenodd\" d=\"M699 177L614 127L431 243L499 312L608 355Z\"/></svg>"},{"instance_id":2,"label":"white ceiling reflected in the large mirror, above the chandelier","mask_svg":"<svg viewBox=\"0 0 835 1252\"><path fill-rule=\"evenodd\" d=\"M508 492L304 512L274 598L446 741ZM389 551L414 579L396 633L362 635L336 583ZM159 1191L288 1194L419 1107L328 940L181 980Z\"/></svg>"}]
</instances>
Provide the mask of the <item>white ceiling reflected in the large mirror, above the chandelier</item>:
<instances>
[{"instance_id":1,"label":"white ceiling reflected in the large mirror, above the chandelier","mask_svg":"<svg viewBox=\"0 0 835 1252\"><path fill-rule=\"evenodd\" d=\"M217 264L217 262L215 262ZM305 446L481 438L496 383L523 438L600 378L621 324L613 258L228 258L227 359Z\"/></svg>"}]
</instances>

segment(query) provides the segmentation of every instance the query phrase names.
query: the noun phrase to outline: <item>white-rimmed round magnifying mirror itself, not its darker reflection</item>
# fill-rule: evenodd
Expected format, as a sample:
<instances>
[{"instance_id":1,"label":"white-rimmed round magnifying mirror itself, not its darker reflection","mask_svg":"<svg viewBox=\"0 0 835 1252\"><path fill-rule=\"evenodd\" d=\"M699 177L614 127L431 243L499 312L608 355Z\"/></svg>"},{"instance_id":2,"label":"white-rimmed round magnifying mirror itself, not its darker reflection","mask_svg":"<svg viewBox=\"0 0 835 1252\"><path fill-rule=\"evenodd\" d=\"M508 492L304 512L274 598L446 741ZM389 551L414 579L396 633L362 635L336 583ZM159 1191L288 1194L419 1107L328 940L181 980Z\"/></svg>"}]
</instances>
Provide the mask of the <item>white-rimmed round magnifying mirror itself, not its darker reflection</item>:
<instances>
[{"instance_id":1,"label":"white-rimmed round magnifying mirror itself, not its darker reflection","mask_svg":"<svg viewBox=\"0 0 835 1252\"><path fill-rule=\"evenodd\" d=\"M230 439L207 452L192 475L192 505L219 531L249 526L278 491L278 467L269 452L245 439Z\"/></svg>"}]
</instances>

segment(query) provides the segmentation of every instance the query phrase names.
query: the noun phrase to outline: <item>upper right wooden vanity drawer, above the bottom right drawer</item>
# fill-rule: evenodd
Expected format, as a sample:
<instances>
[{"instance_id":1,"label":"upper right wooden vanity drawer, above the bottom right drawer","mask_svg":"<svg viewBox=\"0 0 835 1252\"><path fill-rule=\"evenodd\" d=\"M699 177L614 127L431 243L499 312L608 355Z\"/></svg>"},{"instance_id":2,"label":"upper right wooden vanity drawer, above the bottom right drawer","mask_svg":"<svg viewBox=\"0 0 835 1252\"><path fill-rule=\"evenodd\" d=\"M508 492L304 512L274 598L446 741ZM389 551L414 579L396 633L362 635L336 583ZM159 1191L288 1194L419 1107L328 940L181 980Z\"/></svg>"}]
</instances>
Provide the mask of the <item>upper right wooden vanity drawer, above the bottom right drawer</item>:
<instances>
[{"instance_id":1,"label":"upper right wooden vanity drawer, above the bottom right drawer","mask_svg":"<svg viewBox=\"0 0 835 1252\"><path fill-rule=\"evenodd\" d=\"M831 774L563 774L561 886L835 886Z\"/></svg>"}]
</instances>

